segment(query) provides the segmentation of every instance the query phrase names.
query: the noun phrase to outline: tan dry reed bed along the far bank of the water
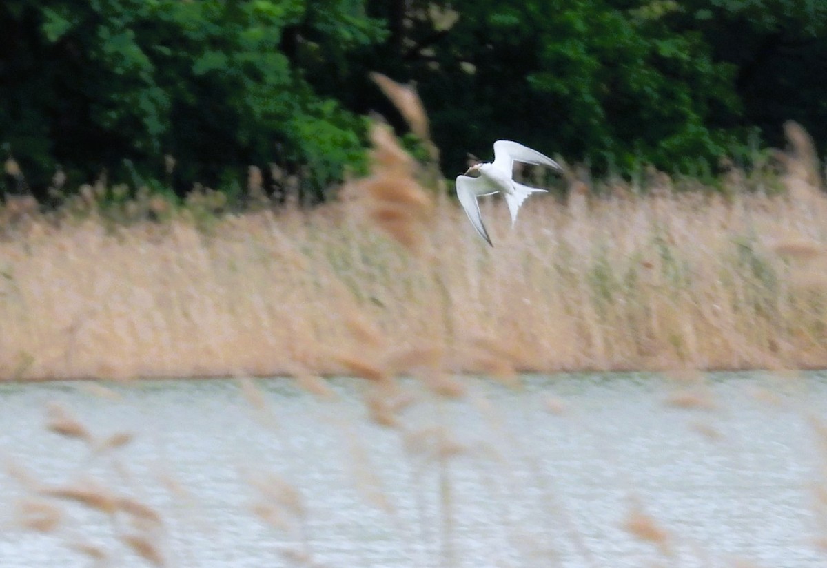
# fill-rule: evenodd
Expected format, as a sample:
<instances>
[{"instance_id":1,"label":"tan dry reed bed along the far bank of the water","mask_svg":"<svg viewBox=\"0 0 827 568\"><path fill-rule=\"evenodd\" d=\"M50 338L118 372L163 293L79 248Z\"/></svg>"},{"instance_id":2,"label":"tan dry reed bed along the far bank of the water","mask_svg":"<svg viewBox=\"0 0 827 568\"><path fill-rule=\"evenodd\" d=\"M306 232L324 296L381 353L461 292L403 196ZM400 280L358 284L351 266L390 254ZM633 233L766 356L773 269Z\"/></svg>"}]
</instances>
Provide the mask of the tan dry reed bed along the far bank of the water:
<instances>
[{"instance_id":1,"label":"tan dry reed bed along the far bank of the water","mask_svg":"<svg viewBox=\"0 0 827 568\"><path fill-rule=\"evenodd\" d=\"M427 137L418 98L380 79ZM204 215L220 195L139 191L113 223L95 196L117 188L49 214L8 201L0 377L827 367L827 196L809 138L787 135L781 173L733 168L723 191L567 170L567 197L534 196L514 230L487 198L494 249L433 144L416 163L382 125L370 176L311 210Z\"/></svg>"}]
</instances>

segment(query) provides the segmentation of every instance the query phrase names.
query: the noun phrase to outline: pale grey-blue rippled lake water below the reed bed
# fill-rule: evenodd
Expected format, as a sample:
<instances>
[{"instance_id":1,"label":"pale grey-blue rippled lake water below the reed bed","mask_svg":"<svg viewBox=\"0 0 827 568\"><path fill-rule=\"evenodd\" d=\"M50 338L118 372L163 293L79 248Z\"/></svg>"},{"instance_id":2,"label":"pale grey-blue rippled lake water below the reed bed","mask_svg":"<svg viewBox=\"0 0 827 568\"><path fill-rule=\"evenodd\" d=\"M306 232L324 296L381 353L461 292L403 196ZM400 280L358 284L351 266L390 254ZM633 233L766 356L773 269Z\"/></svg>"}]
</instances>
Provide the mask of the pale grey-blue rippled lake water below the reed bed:
<instances>
[{"instance_id":1,"label":"pale grey-blue rippled lake water below the reed bed","mask_svg":"<svg viewBox=\"0 0 827 568\"><path fill-rule=\"evenodd\" d=\"M824 372L690 392L644 374L465 382L449 401L406 383L400 428L368 418L353 379L334 400L287 379L246 396L232 380L0 385L0 566L149 566L123 534L188 567L827 566ZM131 442L61 437L55 407ZM38 496L89 480L160 525ZM58 508L53 530L20 526L33 502Z\"/></svg>"}]
</instances>

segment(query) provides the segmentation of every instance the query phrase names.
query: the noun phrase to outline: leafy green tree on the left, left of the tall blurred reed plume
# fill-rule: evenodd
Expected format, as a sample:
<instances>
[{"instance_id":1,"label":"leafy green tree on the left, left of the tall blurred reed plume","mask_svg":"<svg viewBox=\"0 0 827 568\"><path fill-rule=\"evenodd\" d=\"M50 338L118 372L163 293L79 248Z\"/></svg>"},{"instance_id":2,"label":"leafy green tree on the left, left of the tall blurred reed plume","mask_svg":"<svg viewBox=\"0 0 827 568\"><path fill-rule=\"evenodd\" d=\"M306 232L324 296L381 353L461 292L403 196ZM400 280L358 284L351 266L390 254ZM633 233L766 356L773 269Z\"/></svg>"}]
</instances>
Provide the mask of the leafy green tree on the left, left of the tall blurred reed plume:
<instances>
[{"instance_id":1,"label":"leafy green tree on the left, left of the tall blurred reed plume","mask_svg":"<svg viewBox=\"0 0 827 568\"><path fill-rule=\"evenodd\" d=\"M358 161L365 121L313 92L295 38L344 59L383 33L349 0L6 0L0 140L33 185L55 161L152 174L165 154L190 182L281 159L323 185Z\"/></svg>"}]
</instances>

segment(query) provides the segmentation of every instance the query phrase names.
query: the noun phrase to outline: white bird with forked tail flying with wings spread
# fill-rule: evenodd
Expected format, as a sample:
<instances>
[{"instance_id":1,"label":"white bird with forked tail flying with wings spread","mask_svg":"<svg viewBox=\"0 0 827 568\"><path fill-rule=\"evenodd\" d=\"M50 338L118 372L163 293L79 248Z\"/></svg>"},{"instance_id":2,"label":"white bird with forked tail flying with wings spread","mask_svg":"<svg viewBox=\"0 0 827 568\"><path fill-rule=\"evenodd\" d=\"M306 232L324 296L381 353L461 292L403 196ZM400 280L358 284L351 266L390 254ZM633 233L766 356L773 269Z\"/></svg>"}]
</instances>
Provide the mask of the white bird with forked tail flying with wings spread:
<instances>
[{"instance_id":1,"label":"white bird with forked tail flying with wings spread","mask_svg":"<svg viewBox=\"0 0 827 568\"><path fill-rule=\"evenodd\" d=\"M494 244L491 243L488 231L485 230L485 225L482 224L480 204L477 203L476 198L502 192L506 203L509 205L509 211L511 211L511 225L514 226L514 223L517 222L517 211L519 211L519 206L523 205L525 198L533 192L547 191L515 182L514 162L531 163L562 170L560 164L547 155L540 154L537 150L511 140L497 140L494 143L493 162L477 163L468 168L464 175L457 176L457 196L460 198L462 208L466 211L468 219L471 220L471 225L474 225L476 232L488 241L488 244L492 247ZM479 177L471 178L468 174L473 172L479 173Z\"/></svg>"}]
</instances>

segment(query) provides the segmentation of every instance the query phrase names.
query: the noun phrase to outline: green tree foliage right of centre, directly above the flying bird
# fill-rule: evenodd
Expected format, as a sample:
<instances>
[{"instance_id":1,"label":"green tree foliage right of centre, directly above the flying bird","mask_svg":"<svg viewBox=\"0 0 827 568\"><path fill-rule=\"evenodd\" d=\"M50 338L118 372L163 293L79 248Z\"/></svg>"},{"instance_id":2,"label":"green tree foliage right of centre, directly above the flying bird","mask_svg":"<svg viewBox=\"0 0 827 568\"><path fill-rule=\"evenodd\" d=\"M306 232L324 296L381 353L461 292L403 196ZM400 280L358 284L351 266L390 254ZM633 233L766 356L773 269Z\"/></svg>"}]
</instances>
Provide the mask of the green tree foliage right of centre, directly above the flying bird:
<instances>
[{"instance_id":1,"label":"green tree foliage right of centre, directly above the flying bird","mask_svg":"<svg viewBox=\"0 0 827 568\"><path fill-rule=\"evenodd\" d=\"M422 2L395 55L454 162L464 149L487 155L505 137L597 166L645 159L673 169L734 143L718 127L739 112L734 68L715 62L699 34L669 29L657 3L452 5L456 21Z\"/></svg>"}]
</instances>

